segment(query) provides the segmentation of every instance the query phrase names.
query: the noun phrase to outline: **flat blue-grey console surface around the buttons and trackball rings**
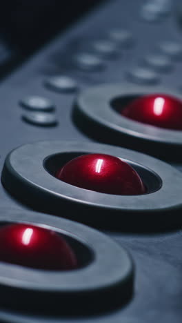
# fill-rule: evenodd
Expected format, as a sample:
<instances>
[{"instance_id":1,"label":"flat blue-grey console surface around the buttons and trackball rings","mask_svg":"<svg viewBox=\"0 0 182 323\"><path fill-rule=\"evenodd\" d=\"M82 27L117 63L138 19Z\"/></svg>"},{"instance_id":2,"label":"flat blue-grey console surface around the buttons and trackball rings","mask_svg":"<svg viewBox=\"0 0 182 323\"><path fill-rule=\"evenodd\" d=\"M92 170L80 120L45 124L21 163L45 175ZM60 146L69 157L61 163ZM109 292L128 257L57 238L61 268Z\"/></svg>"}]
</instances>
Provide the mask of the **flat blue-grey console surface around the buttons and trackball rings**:
<instances>
[{"instance_id":1,"label":"flat blue-grey console surface around the buttons and trackball rings","mask_svg":"<svg viewBox=\"0 0 182 323\"><path fill-rule=\"evenodd\" d=\"M80 144L92 141L80 128L75 127L71 119L77 94L50 91L44 86L45 79L53 75L68 75L77 81L79 90L103 83L125 83L128 70L139 66L143 56L160 52L160 43L170 40L181 43L181 28L176 14L176 7L180 2L171 1L172 10L167 15L148 22L141 17L143 1L107 1L100 9L90 12L79 23L59 35L49 46L8 77L0 87L1 169L10 150L22 144L41 140L74 140ZM102 70L91 72L79 69L74 63L75 55L88 51L92 41L107 37L111 39L110 31L115 28L130 31L134 40L133 46L127 49L120 46L119 55L112 61L102 59L105 66ZM159 86L178 92L182 88L182 66L180 60L172 59L172 62L174 69L171 72L158 73ZM130 90L136 85L128 81L127 86ZM141 90L144 88L145 86L141 86ZM43 128L22 121L19 100L28 95L41 95L54 101L58 126ZM131 147L137 149L134 142ZM181 150L179 159L173 164L182 170L180 158ZM176 177L173 182L175 180ZM20 212L26 210L3 186L0 188L0 195L1 206L17 208ZM139 222L140 224L142 223ZM128 228L128 233L124 233L122 228L117 232L111 229L106 231L128 249L134 260L134 295L126 306L113 310L108 310L105 306L102 313L79 316L70 313L66 317L56 313L37 315L25 309L8 311L1 306L1 320L17 323L181 323L181 225L176 229L169 227L168 231L159 233L159 227L155 224L152 230L153 233L137 233L137 230L131 233L131 228Z\"/></svg>"}]
</instances>

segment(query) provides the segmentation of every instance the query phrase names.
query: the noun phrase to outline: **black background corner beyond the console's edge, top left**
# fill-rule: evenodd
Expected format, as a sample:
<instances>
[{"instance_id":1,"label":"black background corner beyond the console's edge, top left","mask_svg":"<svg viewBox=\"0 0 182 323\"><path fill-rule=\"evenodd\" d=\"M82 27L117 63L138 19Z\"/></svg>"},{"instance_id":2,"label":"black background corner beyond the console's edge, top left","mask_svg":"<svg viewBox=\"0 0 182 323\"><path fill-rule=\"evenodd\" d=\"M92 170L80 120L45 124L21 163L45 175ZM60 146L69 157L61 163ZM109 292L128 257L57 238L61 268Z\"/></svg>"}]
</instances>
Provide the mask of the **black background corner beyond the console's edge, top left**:
<instances>
[{"instance_id":1,"label":"black background corner beyond the console's edge, top left","mask_svg":"<svg viewBox=\"0 0 182 323\"><path fill-rule=\"evenodd\" d=\"M0 79L101 0L6 0L0 7Z\"/></svg>"}]
</instances>

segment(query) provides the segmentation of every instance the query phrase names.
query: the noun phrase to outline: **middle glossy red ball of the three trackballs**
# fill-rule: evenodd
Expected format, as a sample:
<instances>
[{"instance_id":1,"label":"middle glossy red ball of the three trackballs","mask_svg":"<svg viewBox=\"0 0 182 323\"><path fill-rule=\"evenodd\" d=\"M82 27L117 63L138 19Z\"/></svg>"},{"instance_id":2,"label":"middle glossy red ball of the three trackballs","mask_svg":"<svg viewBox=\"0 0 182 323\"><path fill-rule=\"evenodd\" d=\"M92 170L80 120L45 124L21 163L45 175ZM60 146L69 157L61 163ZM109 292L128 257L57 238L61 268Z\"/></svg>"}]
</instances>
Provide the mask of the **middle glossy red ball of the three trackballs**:
<instances>
[{"instance_id":1,"label":"middle glossy red ball of the three trackballs","mask_svg":"<svg viewBox=\"0 0 182 323\"><path fill-rule=\"evenodd\" d=\"M68 161L56 177L68 184L114 195L146 193L138 173L117 157L104 154L82 155Z\"/></svg>"}]
</instances>

